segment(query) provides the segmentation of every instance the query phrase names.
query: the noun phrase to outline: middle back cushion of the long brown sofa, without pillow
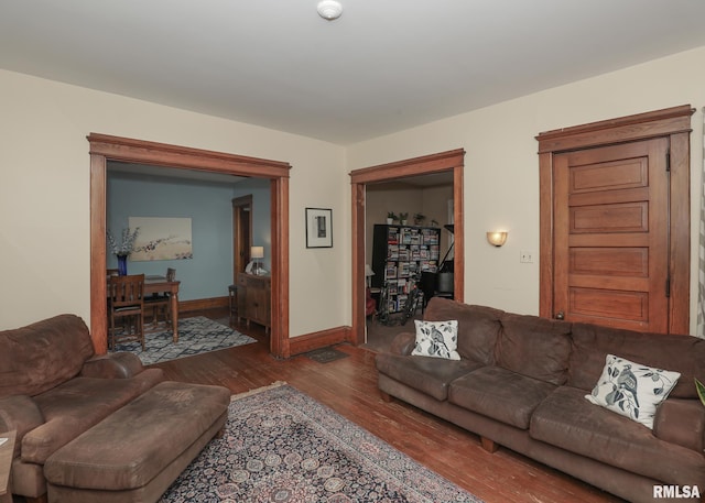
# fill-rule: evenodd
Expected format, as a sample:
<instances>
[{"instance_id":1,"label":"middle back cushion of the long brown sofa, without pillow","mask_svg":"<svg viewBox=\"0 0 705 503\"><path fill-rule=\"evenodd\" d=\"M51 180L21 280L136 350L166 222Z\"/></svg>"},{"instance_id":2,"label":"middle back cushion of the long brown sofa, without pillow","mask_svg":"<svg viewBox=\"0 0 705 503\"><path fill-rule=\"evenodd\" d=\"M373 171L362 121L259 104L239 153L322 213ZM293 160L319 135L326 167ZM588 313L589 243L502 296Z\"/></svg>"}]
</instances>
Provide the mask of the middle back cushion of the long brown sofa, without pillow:
<instances>
[{"instance_id":1,"label":"middle back cushion of the long brown sofa, without pillow","mask_svg":"<svg viewBox=\"0 0 705 503\"><path fill-rule=\"evenodd\" d=\"M551 384L565 383L571 354L570 322L505 314L501 326L496 351L499 367Z\"/></svg>"}]
</instances>

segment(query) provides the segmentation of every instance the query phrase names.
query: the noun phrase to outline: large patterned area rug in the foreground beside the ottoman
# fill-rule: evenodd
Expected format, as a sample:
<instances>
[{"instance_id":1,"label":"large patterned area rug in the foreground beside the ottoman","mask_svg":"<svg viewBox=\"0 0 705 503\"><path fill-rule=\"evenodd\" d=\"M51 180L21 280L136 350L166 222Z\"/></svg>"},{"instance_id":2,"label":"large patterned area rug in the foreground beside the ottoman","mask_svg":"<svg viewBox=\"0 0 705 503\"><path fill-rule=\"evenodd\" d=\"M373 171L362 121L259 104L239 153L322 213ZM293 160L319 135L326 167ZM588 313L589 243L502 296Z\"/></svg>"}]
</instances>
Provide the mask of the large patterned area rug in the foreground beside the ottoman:
<instances>
[{"instance_id":1,"label":"large patterned area rug in the foreground beside the ottoman","mask_svg":"<svg viewBox=\"0 0 705 503\"><path fill-rule=\"evenodd\" d=\"M480 502L285 383L234 396L226 431L160 503Z\"/></svg>"}]
</instances>

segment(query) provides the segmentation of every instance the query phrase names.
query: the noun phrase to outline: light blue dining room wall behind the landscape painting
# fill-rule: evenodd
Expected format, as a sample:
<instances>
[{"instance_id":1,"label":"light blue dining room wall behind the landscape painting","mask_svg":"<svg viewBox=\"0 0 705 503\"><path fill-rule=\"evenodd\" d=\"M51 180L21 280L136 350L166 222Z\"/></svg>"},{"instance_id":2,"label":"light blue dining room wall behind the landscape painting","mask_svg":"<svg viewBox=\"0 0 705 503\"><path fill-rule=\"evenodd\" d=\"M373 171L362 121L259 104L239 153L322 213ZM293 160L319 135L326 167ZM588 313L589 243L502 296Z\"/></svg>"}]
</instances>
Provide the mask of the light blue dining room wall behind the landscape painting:
<instances>
[{"instance_id":1,"label":"light blue dining room wall behind the landscape painting","mask_svg":"<svg viewBox=\"0 0 705 503\"><path fill-rule=\"evenodd\" d=\"M237 187L237 188L236 188ZM257 193L257 194L256 194ZM267 240L269 264L269 181L239 184L144 176L108 171L107 228L119 236L129 217L181 217L192 219L193 259L152 262L128 261L128 274L166 274L176 269L180 299L223 297L232 283L232 198L253 195L253 241ZM264 222L264 223L262 223ZM117 260L108 249L108 267Z\"/></svg>"}]
</instances>

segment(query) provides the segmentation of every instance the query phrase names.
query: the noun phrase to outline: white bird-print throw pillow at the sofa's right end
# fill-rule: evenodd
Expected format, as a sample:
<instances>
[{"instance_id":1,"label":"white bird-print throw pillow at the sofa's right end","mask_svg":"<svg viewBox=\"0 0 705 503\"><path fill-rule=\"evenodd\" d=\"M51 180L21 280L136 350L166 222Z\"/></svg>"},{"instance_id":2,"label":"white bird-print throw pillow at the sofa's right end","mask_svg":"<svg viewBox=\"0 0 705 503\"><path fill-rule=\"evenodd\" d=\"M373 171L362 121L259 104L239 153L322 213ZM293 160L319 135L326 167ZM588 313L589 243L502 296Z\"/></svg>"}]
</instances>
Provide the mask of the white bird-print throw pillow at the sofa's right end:
<instances>
[{"instance_id":1,"label":"white bird-print throw pillow at the sofa's right end","mask_svg":"<svg viewBox=\"0 0 705 503\"><path fill-rule=\"evenodd\" d=\"M653 429L657 407L669 396L680 376L679 372L652 369L608 354L593 393L585 397Z\"/></svg>"}]
</instances>

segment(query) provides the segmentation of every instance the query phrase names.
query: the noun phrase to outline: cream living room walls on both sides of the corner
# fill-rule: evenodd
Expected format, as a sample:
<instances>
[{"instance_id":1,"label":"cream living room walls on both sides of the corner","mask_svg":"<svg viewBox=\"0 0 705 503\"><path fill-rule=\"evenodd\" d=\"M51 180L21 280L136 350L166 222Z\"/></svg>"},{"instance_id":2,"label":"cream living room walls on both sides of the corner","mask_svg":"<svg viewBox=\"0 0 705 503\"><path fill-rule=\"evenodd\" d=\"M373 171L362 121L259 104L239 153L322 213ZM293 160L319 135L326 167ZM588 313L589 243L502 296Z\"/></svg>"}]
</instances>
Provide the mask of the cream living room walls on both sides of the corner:
<instances>
[{"instance_id":1,"label":"cream living room walls on both sides of the corner","mask_svg":"<svg viewBox=\"0 0 705 503\"><path fill-rule=\"evenodd\" d=\"M58 313L89 314L90 132L292 164L291 333L350 324L348 173L465 149L465 298L538 313L536 141L546 130L677 105L697 108L692 223L697 231L705 47L401 131L347 149L249 124L0 70L0 328ZM305 248L304 208L333 208L334 248ZM506 228L505 247L485 232ZM695 234L696 236L696 234ZM695 324L697 240L692 240Z\"/></svg>"}]
</instances>

